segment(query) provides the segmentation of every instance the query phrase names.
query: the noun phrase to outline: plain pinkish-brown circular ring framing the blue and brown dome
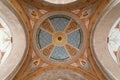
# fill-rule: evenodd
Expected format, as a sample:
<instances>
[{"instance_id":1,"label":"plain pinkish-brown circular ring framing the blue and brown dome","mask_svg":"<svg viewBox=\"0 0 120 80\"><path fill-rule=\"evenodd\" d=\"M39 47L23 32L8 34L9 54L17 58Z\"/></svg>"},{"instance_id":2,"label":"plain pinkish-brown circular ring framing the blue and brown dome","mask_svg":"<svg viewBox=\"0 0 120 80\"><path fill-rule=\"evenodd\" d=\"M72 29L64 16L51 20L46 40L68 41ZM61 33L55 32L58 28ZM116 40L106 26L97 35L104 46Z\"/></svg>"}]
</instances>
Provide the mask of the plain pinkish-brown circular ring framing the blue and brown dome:
<instances>
[{"instance_id":1,"label":"plain pinkish-brown circular ring framing the blue and brown dome","mask_svg":"<svg viewBox=\"0 0 120 80\"><path fill-rule=\"evenodd\" d=\"M40 53L42 53L43 51L40 50L40 49L38 48L39 46L37 45L36 33L37 33L38 28L40 27L40 25L41 25L47 18L49 18L49 17L51 17L51 16L54 16L54 15L67 15L68 17L71 17L73 20L75 20L75 21L77 22L77 24L78 24L79 26L81 26L80 28L82 28L82 31L83 31L83 40L82 40L83 42L82 42L81 49L79 50L79 52L78 52L77 55L75 55L72 59L70 59L70 60L68 60L68 61L55 62L55 61L49 60L48 57L45 57L45 56L43 56L43 54L40 54ZM75 24L74 24L74 25L75 25ZM60 34L60 36L61 36L60 38L65 37L64 33ZM55 38L55 39L57 39L57 41L59 41L58 38L59 38L59 36L58 36L57 38ZM81 56L81 54L84 52L84 50L85 50L86 40L87 40L86 38L87 38L87 36L86 36L86 28L85 28L84 25L81 23L80 19L79 19L76 15L74 15L74 14L72 14L72 13L64 12L64 11L50 12L50 13L45 14L44 16L42 16L42 17L38 20L38 22L36 23L35 28L34 28L34 34L33 34L33 39L34 39L33 42L34 42L35 52L38 54L38 56L39 56L43 61L45 61L45 62L48 63L48 64L54 64L54 63L72 63L72 62L74 62L75 60L77 60L77 59ZM66 39L65 39L65 40L66 40ZM58 44L59 42L56 42L56 43ZM64 44L64 43L63 43L63 44Z\"/></svg>"}]
</instances>

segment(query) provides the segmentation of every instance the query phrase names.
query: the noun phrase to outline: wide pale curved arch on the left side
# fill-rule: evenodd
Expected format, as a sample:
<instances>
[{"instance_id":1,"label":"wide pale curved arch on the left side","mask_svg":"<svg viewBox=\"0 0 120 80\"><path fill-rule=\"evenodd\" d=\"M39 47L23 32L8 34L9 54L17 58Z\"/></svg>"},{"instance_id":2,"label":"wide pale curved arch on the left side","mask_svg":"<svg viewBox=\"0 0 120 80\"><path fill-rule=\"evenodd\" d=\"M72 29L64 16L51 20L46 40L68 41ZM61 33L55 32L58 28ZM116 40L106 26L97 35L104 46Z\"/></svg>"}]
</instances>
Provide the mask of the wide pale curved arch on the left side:
<instances>
[{"instance_id":1,"label":"wide pale curved arch on the left side","mask_svg":"<svg viewBox=\"0 0 120 80\"><path fill-rule=\"evenodd\" d=\"M27 55L29 37L24 23L8 1L0 1L0 17L8 25L12 36L11 52L0 64L0 80L8 80L15 76Z\"/></svg>"}]
</instances>

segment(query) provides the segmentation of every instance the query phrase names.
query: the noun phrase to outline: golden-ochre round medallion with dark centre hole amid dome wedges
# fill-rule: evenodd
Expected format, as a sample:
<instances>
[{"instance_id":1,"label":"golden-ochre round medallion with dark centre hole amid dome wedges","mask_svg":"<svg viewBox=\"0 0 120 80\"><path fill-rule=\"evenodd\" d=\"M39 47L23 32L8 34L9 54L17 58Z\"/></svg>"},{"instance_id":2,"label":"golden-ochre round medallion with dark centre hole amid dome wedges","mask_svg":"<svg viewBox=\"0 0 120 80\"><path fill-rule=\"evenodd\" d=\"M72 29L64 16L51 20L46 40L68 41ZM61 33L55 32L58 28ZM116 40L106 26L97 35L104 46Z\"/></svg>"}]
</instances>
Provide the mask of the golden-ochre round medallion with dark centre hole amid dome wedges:
<instances>
[{"instance_id":1,"label":"golden-ochre round medallion with dark centre hole amid dome wedges","mask_svg":"<svg viewBox=\"0 0 120 80\"><path fill-rule=\"evenodd\" d=\"M67 35L64 32L53 34L52 42L56 46L64 46L67 43Z\"/></svg>"}]
</instances>

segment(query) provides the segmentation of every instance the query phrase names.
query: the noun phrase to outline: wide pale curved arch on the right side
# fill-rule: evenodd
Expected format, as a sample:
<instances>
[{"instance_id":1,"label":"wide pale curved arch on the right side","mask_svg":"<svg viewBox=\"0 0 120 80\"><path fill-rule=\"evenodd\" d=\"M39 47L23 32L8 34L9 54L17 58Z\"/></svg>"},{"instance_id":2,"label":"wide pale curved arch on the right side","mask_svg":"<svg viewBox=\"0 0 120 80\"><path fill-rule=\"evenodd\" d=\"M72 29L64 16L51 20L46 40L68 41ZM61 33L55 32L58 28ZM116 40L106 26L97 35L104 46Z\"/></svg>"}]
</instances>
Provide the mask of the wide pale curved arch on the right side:
<instances>
[{"instance_id":1,"label":"wide pale curved arch on the right side","mask_svg":"<svg viewBox=\"0 0 120 80\"><path fill-rule=\"evenodd\" d=\"M120 17L120 1L111 1L111 4L105 9L97 20L91 34L91 50L99 68L108 79L120 79L120 67L113 60L108 50L109 32Z\"/></svg>"}]
</instances>

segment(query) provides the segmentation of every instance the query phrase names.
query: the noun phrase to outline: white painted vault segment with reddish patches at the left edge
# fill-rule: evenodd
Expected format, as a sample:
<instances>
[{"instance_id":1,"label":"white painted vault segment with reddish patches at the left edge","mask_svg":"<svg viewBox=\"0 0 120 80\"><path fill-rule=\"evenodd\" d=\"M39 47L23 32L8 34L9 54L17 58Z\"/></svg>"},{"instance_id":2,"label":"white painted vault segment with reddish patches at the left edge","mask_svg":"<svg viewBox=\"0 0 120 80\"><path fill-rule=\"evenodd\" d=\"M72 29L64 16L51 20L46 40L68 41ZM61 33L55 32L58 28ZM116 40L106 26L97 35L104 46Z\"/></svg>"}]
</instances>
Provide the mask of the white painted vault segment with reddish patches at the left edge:
<instances>
[{"instance_id":1,"label":"white painted vault segment with reddish patches at the left edge","mask_svg":"<svg viewBox=\"0 0 120 80\"><path fill-rule=\"evenodd\" d=\"M0 18L0 64L2 64L8 57L11 47L12 38L7 24Z\"/></svg>"}]
</instances>

